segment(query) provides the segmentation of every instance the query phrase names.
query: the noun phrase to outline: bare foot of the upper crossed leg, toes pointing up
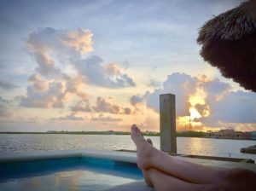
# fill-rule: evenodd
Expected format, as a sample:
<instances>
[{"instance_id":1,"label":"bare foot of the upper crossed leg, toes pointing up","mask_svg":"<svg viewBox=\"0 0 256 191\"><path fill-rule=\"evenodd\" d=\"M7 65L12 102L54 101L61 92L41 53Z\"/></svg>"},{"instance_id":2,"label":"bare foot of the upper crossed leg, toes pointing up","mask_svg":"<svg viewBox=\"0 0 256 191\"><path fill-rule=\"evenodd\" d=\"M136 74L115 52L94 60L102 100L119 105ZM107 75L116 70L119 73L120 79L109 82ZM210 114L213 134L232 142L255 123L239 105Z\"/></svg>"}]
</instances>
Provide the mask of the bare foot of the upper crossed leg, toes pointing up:
<instances>
[{"instance_id":1,"label":"bare foot of the upper crossed leg, toes pointing up","mask_svg":"<svg viewBox=\"0 0 256 191\"><path fill-rule=\"evenodd\" d=\"M152 145L147 142L136 124L131 126L131 139L137 146L137 165L142 170L150 168L150 158L152 156ZM152 142L151 142L152 143Z\"/></svg>"}]
</instances>

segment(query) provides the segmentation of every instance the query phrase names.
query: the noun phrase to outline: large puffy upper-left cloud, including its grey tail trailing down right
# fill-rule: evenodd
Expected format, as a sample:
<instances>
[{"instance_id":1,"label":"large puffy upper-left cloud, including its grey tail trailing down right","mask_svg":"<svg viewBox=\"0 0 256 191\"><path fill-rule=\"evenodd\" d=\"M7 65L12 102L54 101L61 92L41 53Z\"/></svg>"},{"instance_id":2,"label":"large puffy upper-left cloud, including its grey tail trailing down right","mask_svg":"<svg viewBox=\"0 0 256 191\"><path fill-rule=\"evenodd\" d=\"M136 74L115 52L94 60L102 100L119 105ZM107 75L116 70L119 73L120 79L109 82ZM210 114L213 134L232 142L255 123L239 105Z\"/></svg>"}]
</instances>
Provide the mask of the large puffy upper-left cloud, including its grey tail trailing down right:
<instances>
[{"instance_id":1,"label":"large puffy upper-left cloud, including its grey tail trailing down right","mask_svg":"<svg viewBox=\"0 0 256 191\"><path fill-rule=\"evenodd\" d=\"M92 48L92 32L86 29L73 31L41 28L31 32L26 41L28 52L36 59L36 71L48 78L68 76L67 67L86 78L87 83L107 88L135 86L135 82L122 72L117 63L103 64L103 59L82 55Z\"/></svg>"}]
</instances>

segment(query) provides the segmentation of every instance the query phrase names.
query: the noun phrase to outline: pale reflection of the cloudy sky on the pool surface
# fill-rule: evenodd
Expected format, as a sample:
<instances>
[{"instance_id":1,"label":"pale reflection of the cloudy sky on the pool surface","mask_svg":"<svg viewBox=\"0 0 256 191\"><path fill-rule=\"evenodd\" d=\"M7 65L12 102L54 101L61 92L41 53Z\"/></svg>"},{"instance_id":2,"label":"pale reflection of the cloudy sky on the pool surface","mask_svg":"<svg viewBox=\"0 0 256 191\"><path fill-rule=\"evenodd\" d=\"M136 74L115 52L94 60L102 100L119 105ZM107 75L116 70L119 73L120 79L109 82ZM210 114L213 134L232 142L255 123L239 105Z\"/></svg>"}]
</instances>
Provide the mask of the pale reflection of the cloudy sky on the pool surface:
<instances>
[{"instance_id":1,"label":"pale reflection of the cloudy sky on the pool surface","mask_svg":"<svg viewBox=\"0 0 256 191\"><path fill-rule=\"evenodd\" d=\"M143 177L141 177L141 180ZM61 171L41 177L26 177L0 183L1 190L102 190L135 180L94 171Z\"/></svg>"}]
</instances>

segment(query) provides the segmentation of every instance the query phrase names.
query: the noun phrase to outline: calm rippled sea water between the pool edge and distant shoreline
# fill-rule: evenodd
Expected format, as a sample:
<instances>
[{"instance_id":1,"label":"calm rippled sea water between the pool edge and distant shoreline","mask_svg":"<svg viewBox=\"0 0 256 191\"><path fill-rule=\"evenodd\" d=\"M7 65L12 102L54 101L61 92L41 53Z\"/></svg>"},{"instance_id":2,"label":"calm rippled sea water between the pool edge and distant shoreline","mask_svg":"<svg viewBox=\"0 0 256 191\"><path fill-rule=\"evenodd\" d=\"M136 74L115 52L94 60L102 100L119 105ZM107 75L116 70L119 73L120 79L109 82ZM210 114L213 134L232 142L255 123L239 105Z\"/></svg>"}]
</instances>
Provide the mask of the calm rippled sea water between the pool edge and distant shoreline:
<instances>
[{"instance_id":1,"label":"calm rippled sea water between the pool edge and distant shoreline","mask_svg":"<svg viewBox=\"0 0 256 191\"><path fill-rule=\"evenodd\" d=\"M154 142L154 147L160 148L160 137L152 136L150 138ZM256 154L240 153L240 148L252 145L256 145L256 142L251 140L177 137L177 153L254 159L256 161ZM130 136L0 134L0 155L14 152L82 148L136 149Z\"/></svg>"}]
</instances>

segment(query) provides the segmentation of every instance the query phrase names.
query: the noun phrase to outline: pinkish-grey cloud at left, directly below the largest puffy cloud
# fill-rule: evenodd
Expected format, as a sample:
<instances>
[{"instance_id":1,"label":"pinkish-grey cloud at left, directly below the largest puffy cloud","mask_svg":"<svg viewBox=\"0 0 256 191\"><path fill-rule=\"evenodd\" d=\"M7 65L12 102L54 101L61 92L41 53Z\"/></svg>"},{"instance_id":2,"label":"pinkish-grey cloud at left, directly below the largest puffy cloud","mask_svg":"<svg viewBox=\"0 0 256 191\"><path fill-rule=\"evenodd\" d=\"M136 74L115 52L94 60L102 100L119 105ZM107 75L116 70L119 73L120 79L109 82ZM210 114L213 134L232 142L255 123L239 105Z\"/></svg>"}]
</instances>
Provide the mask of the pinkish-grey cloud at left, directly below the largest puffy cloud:
<instances>
[{"instance_id":1,"label":"pinkish-grey cloud at left, directly below the largest puffy cloud","mask_svg":"<svg viewBox=\"0 0 256 191\"><path fill-rule=\"evenodd\" d=\"M62 108L70 95L79 97L89 105L88 96L82 91L83 78L59 78L45 80L33 74L28 79L26 96L19 96L21 107Z\"/></svg>"}]
</instances>

